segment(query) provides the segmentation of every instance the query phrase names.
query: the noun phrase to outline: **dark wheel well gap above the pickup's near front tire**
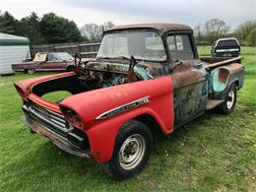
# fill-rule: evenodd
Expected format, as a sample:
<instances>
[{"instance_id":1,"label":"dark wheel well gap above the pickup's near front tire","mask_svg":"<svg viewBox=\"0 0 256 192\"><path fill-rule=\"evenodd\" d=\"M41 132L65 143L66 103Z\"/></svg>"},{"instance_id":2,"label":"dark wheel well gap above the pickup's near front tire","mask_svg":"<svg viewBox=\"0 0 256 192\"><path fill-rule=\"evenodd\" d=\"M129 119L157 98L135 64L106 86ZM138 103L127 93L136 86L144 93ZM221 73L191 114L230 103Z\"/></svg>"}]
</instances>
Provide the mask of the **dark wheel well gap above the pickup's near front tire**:
<instances>
[{"instance_id":1,"label":"dark wheel well gap above the pickup's near front tire","mask_svg":"<svg viewBox=\"0 0 256 192\"><path fill-rule=\"evenodd\" d=\"M153 136L155 134L162 134L159 122L150 114L142 114L134 118L137 121L144 123L150 128Z\"/></svg>"}]
</instances>

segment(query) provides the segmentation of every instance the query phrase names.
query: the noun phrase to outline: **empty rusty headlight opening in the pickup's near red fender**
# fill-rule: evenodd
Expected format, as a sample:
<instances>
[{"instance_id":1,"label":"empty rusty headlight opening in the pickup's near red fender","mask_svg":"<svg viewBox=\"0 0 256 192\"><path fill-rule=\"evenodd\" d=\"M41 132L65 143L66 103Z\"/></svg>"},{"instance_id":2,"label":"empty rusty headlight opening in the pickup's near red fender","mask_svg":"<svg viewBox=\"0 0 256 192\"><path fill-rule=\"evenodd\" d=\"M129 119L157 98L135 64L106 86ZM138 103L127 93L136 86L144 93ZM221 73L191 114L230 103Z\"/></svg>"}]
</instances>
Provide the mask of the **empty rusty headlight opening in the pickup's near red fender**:
<instances>
[{"instance_id":1,"label":"empty rusty headlight opening in the pickup's near red fender","mask_svg":"<svg viewBox=\"0 0 256 192\"><path fill-rule=\"evenodd\" d=\"M70 108L64 107L64 106L61 106L60 109L61 109L62 113L64 114L64 116L66 117L66 119L74 127L77 127L77 128L80 128L80 129L84 128L82 120L79 117L79 115L76 113L76 111L74 111L74 110L72 110Z\"/></svg>"}]
</instances>

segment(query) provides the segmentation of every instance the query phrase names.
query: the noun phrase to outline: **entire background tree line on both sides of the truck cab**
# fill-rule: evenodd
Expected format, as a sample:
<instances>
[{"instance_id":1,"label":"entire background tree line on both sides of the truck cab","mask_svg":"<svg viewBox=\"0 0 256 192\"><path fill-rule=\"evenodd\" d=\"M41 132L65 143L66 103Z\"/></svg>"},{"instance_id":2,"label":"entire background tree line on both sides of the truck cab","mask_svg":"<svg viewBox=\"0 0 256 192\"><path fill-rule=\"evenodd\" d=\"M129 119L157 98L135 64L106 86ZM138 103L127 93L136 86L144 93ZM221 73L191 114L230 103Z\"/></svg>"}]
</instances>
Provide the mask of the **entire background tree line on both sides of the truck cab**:
<instances>
[{"instance_id":1,"label":"entire background tree line on both sides of the truck cab","mask_svg":"<svg viewBox=\"0 0 256 192\"><path fill-rule=\"evenodd\" d=\"M81 29L70 20L54 13L44 14L39 18L35 13L21 20L15 19L8 12L0 12L0 32L27 36L32 44L61 42L98 42L102 32L112 28L112 22L103 25L86 24ZM242 45L256 46L256 20L247 21L231 30L223 20L212 19L194 28L197 44L209 45L221 37L236 37Z\"/></svg>"}]
</instances>

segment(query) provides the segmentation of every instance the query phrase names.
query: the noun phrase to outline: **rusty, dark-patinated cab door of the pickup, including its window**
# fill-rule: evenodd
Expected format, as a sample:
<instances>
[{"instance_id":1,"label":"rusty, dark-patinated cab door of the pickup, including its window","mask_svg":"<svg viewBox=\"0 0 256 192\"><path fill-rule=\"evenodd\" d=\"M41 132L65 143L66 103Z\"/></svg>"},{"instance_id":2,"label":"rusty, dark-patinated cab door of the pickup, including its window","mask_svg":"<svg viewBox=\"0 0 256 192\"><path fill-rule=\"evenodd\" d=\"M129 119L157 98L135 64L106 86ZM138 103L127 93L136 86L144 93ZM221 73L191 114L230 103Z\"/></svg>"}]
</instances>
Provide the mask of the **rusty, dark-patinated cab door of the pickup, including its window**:
<instances>
[{"instance_id":1,"label":"rusty, dark-patinated cab door of the pickup, including its window","mask_svg":"<svg viewBox=\"0 0 256 192\"><path fill-rule=\"evenodd\" d=\"M170 33L166 38L173 61L174 128L202 114L208 98L208 73L197 58L192 37L189 33Z\"/></svg>"}]
</instances>

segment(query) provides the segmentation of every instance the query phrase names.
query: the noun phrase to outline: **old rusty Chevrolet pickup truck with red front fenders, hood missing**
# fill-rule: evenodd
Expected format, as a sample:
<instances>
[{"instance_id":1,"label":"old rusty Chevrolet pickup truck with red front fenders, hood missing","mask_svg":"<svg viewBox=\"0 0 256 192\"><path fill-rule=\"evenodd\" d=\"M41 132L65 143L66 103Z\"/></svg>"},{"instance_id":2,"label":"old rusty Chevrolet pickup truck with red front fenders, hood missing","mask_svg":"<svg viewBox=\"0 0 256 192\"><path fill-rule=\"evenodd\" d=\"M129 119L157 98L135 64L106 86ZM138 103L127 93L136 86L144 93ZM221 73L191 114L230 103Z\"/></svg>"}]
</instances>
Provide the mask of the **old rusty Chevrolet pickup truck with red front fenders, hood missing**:
<instances>
[{"instance_id":1,"label":"old rusty Chevrolet pickup truck with red front fenders, hood missing","mask_svg":"<svg viewBox=\"0 0 256 192\"><path fill-rule=\"evenodd\" d=\"M154 129L169 135L206 110L231 113L243 73L241 57L199 58L188 26L141 24L104 32L96 59L74 72L15 88L32 133L125 179L149 160ZM72 96L42 98L57 91Z\"/></svg>"}]
</instances>

